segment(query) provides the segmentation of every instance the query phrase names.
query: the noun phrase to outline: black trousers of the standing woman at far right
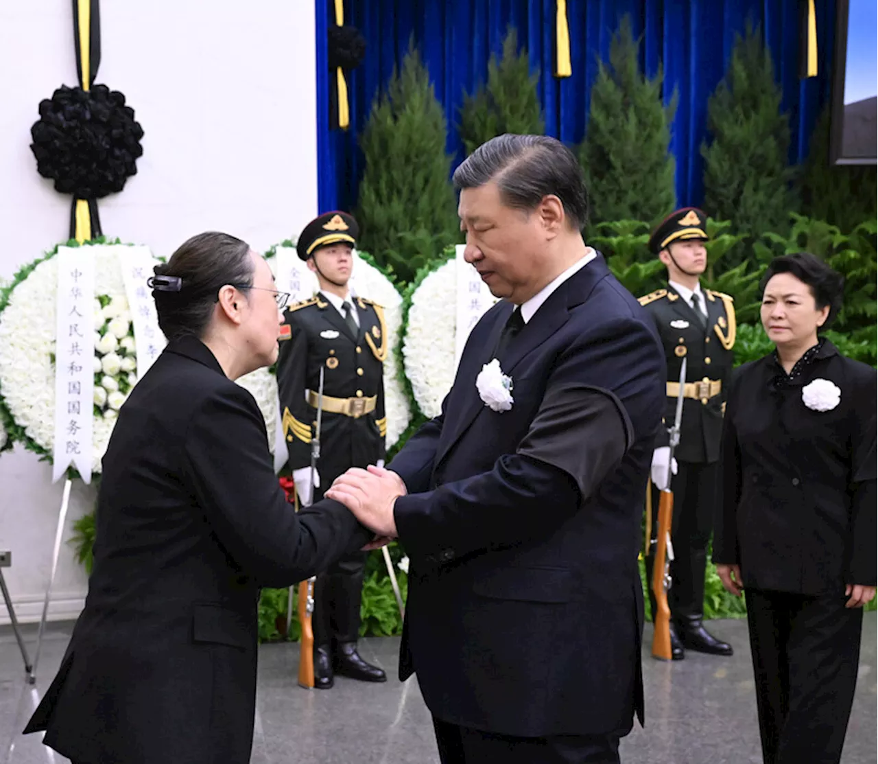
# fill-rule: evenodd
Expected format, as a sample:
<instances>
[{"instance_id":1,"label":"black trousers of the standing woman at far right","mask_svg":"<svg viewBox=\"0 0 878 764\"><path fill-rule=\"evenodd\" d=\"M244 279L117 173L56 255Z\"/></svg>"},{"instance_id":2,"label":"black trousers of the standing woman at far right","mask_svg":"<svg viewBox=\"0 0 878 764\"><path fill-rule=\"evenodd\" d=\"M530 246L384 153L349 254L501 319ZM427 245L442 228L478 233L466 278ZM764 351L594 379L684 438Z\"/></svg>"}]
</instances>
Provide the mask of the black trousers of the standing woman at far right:
<instances>
[{"instance_id":1,"label":"black trousers of the standing woman at far right","mask_svg":"<svg viewBox=\"0 0 878 764\"><path fill-rule=\"evenodd\" d=\"M838 596L747 589L765 764L838 764L860 663L863 611Z\"/></svg>"}]
</instances>

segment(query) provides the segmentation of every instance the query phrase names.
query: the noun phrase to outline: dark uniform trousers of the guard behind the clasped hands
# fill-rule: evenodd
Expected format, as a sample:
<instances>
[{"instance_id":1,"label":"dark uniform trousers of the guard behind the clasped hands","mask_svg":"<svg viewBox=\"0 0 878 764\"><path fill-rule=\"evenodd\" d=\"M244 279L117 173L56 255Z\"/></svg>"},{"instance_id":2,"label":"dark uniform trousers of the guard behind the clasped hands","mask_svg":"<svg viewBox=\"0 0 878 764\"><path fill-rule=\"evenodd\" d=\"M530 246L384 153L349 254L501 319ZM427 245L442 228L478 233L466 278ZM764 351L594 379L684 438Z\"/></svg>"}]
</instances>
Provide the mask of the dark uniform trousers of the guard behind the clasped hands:
<instances>
[{"instance_id":1,"label":"dark uniform trousers of the guard behind the clasped hands","mask_svg":"<svg viewBox=\"0 0 878 764\"><path fill-rule=\"evenodd\" d=\"M323 498L323 492L328 490L335 478L345 472L348 466L324 463L324 469L320 470L320 487L314 489L314 501ZM314 582L312 620L315 649L320 646L334 647L359 639L365 566L366 552L355 551L317 575Z\"/></svg>"}]
</instances>

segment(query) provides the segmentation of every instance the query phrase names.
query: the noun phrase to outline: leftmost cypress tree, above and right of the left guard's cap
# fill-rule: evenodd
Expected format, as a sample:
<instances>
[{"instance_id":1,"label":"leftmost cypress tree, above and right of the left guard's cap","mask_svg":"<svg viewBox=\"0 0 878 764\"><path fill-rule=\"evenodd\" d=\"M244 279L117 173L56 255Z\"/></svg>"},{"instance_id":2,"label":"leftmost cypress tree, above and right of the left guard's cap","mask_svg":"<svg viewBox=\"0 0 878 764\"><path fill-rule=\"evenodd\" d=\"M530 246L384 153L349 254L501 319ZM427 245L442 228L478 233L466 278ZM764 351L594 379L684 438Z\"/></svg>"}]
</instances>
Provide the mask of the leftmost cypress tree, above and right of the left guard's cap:
<instances>
[{"instance_id":1,"label":"leftmost cypress tree, above and right of the left guard's cap","mask_svg":"<svg viewBox=\"0 0 878 764\"><path fill-rule=\"evenodd\" d=\"M356 219L360 245L400 282L459 239L443 107L421 55L409 43L399 71L372 103Z\"/></svg>"}]
</instances>

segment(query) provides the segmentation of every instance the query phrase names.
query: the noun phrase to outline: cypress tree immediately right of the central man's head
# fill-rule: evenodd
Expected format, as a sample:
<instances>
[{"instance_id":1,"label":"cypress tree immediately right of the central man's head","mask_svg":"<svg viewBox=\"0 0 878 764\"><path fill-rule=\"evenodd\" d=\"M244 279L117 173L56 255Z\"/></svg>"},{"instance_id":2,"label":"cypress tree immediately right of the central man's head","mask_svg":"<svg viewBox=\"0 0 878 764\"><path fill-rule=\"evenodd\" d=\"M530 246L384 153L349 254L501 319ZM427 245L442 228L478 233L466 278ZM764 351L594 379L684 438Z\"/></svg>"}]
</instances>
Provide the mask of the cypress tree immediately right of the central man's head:
<instances>
[{"instance_id":1,"label":"cypress tree immediately right of the central man's head","mask_svg":"<svg viewBox=\"0 0 878 764\"><path fill-rule=\"evenodd\" d=\"M676 205L675 162L668 151L677 93L662 103L663 73L639 68L640 40L625 16L599 63L579 162L592 197L592 221L658 222Z\"/></svg>"}]
</instances>

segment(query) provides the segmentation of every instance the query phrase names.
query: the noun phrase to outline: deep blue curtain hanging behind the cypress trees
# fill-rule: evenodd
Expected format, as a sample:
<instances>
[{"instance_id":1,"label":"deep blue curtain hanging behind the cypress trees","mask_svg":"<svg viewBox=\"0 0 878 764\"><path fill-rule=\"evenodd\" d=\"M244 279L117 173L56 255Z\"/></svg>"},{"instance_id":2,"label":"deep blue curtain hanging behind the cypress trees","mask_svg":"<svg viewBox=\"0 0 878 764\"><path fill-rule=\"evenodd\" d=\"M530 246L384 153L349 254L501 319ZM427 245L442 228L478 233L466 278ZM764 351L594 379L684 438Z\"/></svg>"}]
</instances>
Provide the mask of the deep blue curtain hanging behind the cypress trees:
<instances>
[{"instance_id":1,"label":"deep blue curtain hanging behind the cypress trees","mask_svg":"<svg viewBox=\"0 0 878 764\"><path fill-rule=\"evenodd\" d=\"M761 26L781 83L782 109L789 114L793 136L790 162L806 155L817 113L829 97L835 0L817 0L818 75L806 80L799 79L799 0L567 0L572 76L560 80L554 76L556 0L346 0L345 23L363 33L368 47L363 63L348 76L350 126L344 131L329 124L334 80L327 70L327 24L335 23L332 0L316 4L321 210L356 204L363 174L357 136L413 34L445 109L447 148L457 166L464 159L457 135L464 90L472 92L484 81L508 25L515 25L532 70L540 73L546 133L572 145L586 132L598 61L608 59L611 37L623 15L630 14L635 35L643 37L646 73L654 76L659 64L664 66L666 101L678 90L671 151L677 160L680 205L702 202L699 149L707 135L707 102L748 18Z\"/></svg>"}]
</instances>

